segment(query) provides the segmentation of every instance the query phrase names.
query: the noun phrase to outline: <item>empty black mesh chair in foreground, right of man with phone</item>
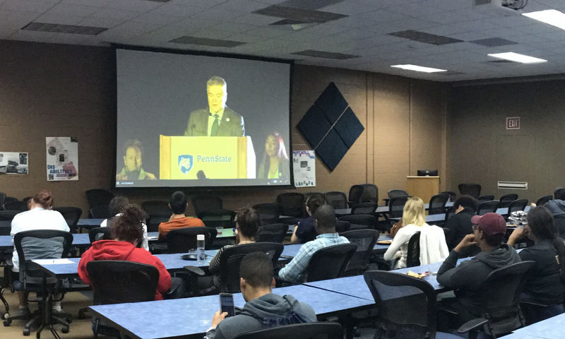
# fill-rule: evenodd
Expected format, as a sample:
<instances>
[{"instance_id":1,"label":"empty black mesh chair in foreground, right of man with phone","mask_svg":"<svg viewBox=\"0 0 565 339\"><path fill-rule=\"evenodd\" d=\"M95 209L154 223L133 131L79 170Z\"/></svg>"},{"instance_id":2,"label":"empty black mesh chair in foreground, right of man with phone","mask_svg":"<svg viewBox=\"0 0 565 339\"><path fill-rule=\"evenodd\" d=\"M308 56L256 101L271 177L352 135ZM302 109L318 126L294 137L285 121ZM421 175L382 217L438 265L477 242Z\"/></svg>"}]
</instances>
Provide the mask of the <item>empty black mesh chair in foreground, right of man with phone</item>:
<instances>
[{"instance_id":1,"label":"empty black mesh chair in foreground, right of man with phone","mask_svg":"<svg viewBox=\"0 0 565 339\"><path fill-rule=\"evenodd\" d=\"M379 312L375 338L460 339L436 330L436 291L426 280L404 273L370 270L364 273Z\"/></svg>"}]
</instances>

